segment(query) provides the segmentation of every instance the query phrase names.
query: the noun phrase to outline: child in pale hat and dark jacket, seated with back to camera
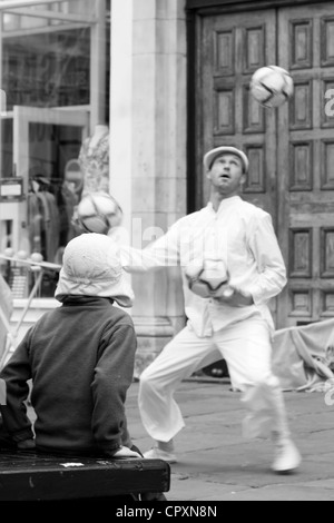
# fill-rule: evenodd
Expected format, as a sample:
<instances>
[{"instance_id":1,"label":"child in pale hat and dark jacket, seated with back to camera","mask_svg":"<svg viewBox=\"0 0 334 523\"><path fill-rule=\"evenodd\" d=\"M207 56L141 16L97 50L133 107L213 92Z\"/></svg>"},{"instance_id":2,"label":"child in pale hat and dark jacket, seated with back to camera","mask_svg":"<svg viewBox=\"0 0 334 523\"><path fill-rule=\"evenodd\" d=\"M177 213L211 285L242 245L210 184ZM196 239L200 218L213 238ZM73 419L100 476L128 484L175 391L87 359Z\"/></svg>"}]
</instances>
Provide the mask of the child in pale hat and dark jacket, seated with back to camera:
<instances>
[{"instance_id":1,"label":"child in pale hat and dark jacket, seated with back to camera","mask_svg":"<svg viewBox=\"0 0 334 523\"><path fill-rule=\"evenodd\" d=\"M131 317L114 306L130 307L134 294L118 248L108 236L84 234L62 263L55 293L62 305L28 330L0 373L4 428L19 448L139 457L125 415L137 338Z\"/></svg>"}]
</instances>

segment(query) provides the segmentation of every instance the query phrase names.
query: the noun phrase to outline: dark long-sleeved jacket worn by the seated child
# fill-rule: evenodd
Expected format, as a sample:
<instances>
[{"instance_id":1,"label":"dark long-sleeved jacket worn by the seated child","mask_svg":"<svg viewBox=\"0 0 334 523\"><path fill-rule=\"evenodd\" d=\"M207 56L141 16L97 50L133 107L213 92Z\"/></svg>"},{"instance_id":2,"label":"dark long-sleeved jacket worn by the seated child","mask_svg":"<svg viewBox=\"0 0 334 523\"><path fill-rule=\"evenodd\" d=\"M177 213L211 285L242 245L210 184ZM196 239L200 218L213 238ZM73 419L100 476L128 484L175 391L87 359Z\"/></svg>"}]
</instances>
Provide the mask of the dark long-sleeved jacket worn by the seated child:
<instances>
[{"instance_id":1,"label":"dark long-sleeved jacket worn by the seated child","mask_svg":"<svg viewBox=\"0 0 334 523\"><path fill-rule=\"evenodd\" d=\"M130 447L125 401L132 381L136 335L130 316L101 297L68 296L32 326L2 369L7 430L32 437L28 381L36 411L36 445L46 451Z\"/></svg>"}]
</instances>

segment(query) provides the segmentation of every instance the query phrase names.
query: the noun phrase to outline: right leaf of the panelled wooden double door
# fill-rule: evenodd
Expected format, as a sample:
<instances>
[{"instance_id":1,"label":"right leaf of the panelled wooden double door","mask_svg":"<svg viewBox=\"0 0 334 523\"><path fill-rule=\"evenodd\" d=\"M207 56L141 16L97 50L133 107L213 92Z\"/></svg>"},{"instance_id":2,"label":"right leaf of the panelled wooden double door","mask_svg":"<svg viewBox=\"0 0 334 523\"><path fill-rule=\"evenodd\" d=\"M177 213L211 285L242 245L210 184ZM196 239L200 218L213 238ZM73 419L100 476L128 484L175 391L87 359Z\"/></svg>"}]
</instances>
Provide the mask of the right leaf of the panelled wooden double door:
<instances>
[{"instance_id":1,"label":"right leaf of the panelled wooden double door","mask_svg":"<svg viewBox=\"0 0 334 523\"><path fill-rule=\"evenodd\" d=\"M288 269L277 320L288 326L334 317L333 2L279 10L278 62L295 82L277 136L278 237Z\"/></svg>"}]
</instances>

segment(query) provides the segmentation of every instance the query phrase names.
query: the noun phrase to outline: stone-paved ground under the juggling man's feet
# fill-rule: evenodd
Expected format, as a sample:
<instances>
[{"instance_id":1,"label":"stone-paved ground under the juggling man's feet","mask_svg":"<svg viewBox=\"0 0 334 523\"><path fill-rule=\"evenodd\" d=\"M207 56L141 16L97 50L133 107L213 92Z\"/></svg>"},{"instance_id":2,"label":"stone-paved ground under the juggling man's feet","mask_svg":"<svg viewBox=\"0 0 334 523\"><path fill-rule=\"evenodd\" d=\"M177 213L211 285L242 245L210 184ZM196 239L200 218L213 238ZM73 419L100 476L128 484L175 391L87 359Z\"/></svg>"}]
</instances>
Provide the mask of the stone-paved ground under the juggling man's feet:
<instances>
[{"instance_id":1,"label":"stone-paved ground under the juggling man's feet","mask_svg":"<svg viewBox=\"0 0 334 523\"><path fill-rule=\"evenodd\" d=\"M334 405L322 393L284 393L304 461L293 475L271 472L269 441L242 437L244 408L228 379L184 382L176 399L186 421L175 438L169 501L334 501ZM138 414L138 383L128 394L128 423L141 451L151 446ZM334 403L334 395L332 396Z\"/></svg>"}]
</instances>

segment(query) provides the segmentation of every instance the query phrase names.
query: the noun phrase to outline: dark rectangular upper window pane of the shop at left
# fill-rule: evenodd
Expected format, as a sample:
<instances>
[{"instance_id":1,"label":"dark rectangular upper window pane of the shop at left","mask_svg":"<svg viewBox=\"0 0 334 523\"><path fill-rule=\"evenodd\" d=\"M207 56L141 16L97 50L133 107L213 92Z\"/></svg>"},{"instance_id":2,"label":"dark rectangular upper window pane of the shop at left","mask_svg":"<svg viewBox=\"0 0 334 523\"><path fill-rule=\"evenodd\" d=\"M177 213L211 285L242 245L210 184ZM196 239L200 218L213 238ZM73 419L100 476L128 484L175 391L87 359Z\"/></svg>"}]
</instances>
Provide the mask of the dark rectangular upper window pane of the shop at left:
<instances>
[{"instance_id":1,"label":"dark rectangular upper window pane of the shop at left","mask_svg":"<svg viewBox=\"0 0 334 523\"><path fill-rule=\"evenodd\" d=\"M3 41L2 53L8 110L89 103L89 28L10 37Z\"/></svg>"}]
</instances>

